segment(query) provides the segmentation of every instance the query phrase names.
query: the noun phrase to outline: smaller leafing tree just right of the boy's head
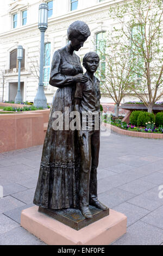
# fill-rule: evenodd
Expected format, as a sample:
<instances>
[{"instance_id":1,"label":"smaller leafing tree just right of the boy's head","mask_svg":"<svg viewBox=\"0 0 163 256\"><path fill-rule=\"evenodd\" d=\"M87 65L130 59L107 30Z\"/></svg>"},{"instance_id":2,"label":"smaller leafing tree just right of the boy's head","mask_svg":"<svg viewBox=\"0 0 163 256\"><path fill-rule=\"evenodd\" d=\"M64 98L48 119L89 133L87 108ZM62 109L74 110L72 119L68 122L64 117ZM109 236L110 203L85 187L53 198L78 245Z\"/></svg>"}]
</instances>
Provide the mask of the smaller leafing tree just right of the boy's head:
<instances>
[{"instance_id":1,"label":"smaller leafing tree just right of the boy's head","mask_svg":"<svg viewBox=\"0 0 163 256\"><path fill-rule=\"evenodd\" d=\"M121 44L121 38L117 33L114 36L109 33L105 39L99 41L96 51L101 59L97 70L101 81L101 92L109 94L114 100L116 117L118 117L120 103L123 97L130 92L129 84L133 80L129 65L134 66L134 62L130 62L128 48Z\"/></svg>"}]
</instances>

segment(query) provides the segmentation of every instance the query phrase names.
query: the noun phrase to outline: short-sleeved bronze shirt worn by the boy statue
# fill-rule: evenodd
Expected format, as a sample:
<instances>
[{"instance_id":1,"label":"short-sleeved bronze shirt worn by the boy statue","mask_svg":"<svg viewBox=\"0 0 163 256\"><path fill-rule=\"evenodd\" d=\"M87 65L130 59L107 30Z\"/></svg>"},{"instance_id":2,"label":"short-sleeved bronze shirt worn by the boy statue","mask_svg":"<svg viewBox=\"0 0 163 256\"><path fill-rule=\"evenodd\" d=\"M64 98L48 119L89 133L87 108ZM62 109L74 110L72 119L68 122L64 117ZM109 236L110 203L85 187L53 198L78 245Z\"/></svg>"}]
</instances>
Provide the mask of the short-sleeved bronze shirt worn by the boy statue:
<instances>
[{"instance_id":1,"label":"short-sleeved bronze shirt worn by the boy statue","mask_svg":"<svg viewBox=\"0 0 163 256\"><path fill-rule=\"evenodd\" d=\"M99 80L93 76L93 81L87 73L84 74L89 78L86 83L77 83L75 98L81 99L80 113L83 111L100 112L100 89Z\"/></svg>"}]
</instances>

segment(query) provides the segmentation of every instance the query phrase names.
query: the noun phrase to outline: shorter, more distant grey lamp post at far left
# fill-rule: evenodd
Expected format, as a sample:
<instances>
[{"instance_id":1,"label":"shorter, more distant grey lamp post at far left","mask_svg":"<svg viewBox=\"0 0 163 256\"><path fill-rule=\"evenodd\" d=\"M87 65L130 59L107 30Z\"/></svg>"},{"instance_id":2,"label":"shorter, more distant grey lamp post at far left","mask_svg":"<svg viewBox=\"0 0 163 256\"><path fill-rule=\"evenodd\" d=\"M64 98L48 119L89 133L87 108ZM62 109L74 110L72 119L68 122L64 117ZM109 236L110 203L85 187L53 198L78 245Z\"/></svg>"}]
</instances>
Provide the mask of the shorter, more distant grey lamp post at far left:
<instances>
[{"instance_id":1,"label":"shorter, more distant grey lamp post at far left","mask_svg":"<svg viewBox=\"0 0 163 256\"><path fill-rule=\"evenodd\" d=\"M20 91L20 74L21 74L21 61L23 59L23 47L19 45L17 47L17 60L18 60L18 86L17 86L17 94L15 97L15 103L22 102L22 95Z\"/></svg>"}]
</instances>

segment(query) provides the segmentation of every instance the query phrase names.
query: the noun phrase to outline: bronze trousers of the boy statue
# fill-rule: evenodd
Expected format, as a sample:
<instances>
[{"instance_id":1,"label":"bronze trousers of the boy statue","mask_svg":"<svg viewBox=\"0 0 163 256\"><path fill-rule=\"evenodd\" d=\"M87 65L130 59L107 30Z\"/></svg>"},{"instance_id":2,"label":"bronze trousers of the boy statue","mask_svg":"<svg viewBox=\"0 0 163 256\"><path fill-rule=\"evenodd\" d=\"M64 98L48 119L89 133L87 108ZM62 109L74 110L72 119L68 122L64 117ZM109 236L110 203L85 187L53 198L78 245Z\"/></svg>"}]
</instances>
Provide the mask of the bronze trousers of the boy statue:
<instances>
[{"instance_id":1,"label":"bronze trousers of the boy statue","mask_svg":"<svg viewBox=\"0 0 163 256\"><path fill-rule=\"evenodd\" d=\"M99 130L83 133L83 145L80 143L79 204L89 206L89 201L97 198Z\"/></svg>"}]
</instances>

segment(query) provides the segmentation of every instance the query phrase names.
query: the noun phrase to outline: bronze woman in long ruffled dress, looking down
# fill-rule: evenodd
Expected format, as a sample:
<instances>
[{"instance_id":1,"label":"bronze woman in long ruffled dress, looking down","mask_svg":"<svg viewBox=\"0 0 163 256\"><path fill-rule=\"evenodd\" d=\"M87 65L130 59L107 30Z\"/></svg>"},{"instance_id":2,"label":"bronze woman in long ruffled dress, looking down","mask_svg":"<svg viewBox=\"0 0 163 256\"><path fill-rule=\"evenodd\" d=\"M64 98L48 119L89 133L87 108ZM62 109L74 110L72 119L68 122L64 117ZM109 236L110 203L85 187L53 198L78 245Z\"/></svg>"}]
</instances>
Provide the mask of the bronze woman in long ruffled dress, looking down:
<instances>
[{"instance_id":1,"label":"bronze woman in long ruffled dress, looking down","mask_svg":"<svg viewBox=\"0 0 163 256\"><path fill-rule=\"evenodd\" d=\"M67 31L68 44L56 51L53 56L49 84L59 89L51 109L33 201L42 208L78 208L78 140L76 131L66 127L65 119L69 115L68 111L74 111L76 83L85 83L88 80L83 75L80 59L74 51L83 46L90 34L85 22L73 22ZM67 113L65 109L68 109ZM53 113L56 111L63 114L63 130L54 130L52 127L55 120Z\"/></svg>"}]
</instances>

